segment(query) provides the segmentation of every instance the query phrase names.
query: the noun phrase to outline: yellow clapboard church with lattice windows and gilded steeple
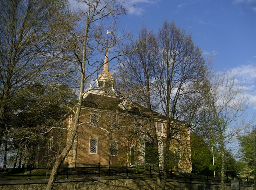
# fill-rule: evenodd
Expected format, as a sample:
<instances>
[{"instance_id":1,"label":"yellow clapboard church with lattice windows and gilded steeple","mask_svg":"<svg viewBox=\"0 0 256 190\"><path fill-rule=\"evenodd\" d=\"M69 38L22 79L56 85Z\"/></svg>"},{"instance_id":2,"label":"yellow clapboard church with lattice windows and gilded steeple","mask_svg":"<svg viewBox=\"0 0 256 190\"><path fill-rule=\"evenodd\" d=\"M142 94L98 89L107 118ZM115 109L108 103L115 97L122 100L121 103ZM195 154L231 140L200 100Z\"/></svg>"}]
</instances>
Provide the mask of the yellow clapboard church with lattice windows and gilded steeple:
<instances>
[{"instance_id":1,"label":"yellow clapboard church with lattice windows and gilded steeple","mask_svg":"<svg viewBox=\"0 0 256 190\"><path fill-rule=\"evenodd\" d=\"M73 148L65 162L70 167L153 165L158 159L163 165L163 143L166 137L164 117L156 113L154 125L158 136L158 155L152 151L152 142L145 135L148 121L139 110L142 106L115 92L115 80L109 72L108 49L104 68L96 78L96 86L86 89ZM136 105L136 106L134 106ZM146 108L144 108L146 109ZM68 119L71 126L72 116ZM143 132L144 131L144 132ZM176 135L182 145L173 143L174 163L182 171L191 171L189 130Z\"/></svg>"}]
</instances>

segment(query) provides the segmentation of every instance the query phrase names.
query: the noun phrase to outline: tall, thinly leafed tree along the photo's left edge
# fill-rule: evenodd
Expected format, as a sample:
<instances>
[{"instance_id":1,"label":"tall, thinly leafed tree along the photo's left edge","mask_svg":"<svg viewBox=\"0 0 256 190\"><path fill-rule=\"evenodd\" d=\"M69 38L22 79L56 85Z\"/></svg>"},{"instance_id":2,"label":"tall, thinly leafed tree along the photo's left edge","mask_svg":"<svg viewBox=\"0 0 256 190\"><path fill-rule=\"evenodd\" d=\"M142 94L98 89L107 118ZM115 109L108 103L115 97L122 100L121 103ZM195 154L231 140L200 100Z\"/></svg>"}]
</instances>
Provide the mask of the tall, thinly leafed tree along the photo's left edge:
<instances>
[{"instance_id":1,"label":"tall, thinly leafed tree along the photo's left edge","mask_svg":"<svg viewBox=\"0 0 256 190\"><path fill-rule=\"evenodd\" d=\"M61 14L64 1L0 0L0 146L10 141L18 92L47 65L41 55L47 50L48 18Z\"/></svg>"}]
</instances>

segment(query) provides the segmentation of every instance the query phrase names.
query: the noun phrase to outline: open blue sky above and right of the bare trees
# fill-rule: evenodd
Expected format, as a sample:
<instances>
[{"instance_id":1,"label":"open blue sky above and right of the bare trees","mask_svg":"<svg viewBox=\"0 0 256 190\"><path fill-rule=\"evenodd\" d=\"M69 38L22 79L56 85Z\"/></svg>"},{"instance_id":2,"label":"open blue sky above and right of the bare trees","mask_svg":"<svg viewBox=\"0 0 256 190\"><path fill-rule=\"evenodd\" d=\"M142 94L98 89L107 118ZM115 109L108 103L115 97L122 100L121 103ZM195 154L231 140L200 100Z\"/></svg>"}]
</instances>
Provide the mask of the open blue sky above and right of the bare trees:
<instances>
[{"instance_id":1,"label":"open blue sky above and right of the bare trees","mask_svg":"<svg viewBox=\"0 0 256 190\"><path fill-rule=\"evenodd\" d=\"M128 0L120 22L135 36L143 24L155 32L165 19L192 34L213 68L233 72L256 110L256 0Z\"/></svg>"}]
</instances>

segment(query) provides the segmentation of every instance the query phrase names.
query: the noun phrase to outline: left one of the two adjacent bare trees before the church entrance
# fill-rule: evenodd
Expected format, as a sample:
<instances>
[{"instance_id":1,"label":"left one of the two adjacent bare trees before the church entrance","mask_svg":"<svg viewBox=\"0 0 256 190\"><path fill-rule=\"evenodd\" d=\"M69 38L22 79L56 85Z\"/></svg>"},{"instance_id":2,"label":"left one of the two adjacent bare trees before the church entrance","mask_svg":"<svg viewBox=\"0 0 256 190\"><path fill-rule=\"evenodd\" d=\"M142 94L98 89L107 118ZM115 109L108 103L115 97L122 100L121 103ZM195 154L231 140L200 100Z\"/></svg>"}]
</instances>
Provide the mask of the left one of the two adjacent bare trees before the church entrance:
<instances>
[{"instance_id":1,"label":"left one of the two adjacent bare trees before the church entrance","mask_svg":"<svg viewBox=\"0 0 256 190\"><path fill-rule=\"evenodd\" d=\"M139 33L138 40L132 42L126 47L129 51L131 49L136 49L133 54L126 55L120 62L119 67L119 87L123 94L128 94L136 104L138 110L144 116L146 121L142 123L138 122L136 125L140 125L136 129L136 135L142 134L147 135L150 141L153 143L154 153L158 153L158 137L156 132L156 127L154 124L154 118L156 117L155 101L155 84L154 84L154 64L158 62L158 44L156 41L156 36L146 27L143 27ZM141 105L146 107L144 109ZM138 131L139 130L139 131ZM141 139L142 137L140 137ZM159 159L155 159L158 179L160 179L160 164Z\"/></svg>"}]
</instances>

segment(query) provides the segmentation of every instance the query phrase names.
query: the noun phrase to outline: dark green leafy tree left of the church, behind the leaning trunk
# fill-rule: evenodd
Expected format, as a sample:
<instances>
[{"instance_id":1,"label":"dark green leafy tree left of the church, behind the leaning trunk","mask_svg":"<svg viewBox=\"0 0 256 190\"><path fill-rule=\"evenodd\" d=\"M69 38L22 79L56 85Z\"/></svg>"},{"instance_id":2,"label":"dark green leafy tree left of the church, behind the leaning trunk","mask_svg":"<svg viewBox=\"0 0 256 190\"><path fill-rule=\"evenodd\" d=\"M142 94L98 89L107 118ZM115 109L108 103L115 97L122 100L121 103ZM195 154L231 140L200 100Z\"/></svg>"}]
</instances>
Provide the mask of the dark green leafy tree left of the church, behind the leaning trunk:
<instances>
[{"instance_id":1,"label":"dark green leafy tree left of the church, behind the leaning trunk","mask_svg":"<svg viewBox=\"0 0 256 190\"><path fill-rule=\"evenodd\" d=\"M64 120L70 110L66 102L72 102L74 92L69 86L49 86L35 83L26 85L17 92L17 111L12 116L12 127L9 128L7 147L16 153L15 159L5 164L16 167L26 165L46 166L54 160L56 153L62 150L65 132L56 129L64 128ZM54 137L54 141L53 138ZM54 143L54 144L53 144ZM49 156L51 155L51 156Z\"/></svg>"}]
</instances>

